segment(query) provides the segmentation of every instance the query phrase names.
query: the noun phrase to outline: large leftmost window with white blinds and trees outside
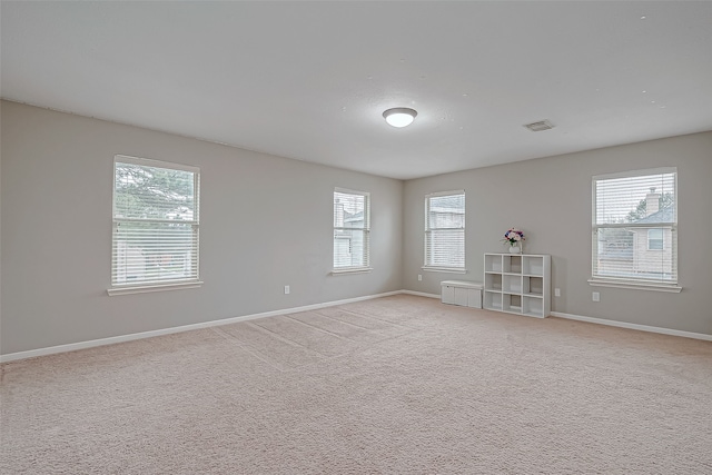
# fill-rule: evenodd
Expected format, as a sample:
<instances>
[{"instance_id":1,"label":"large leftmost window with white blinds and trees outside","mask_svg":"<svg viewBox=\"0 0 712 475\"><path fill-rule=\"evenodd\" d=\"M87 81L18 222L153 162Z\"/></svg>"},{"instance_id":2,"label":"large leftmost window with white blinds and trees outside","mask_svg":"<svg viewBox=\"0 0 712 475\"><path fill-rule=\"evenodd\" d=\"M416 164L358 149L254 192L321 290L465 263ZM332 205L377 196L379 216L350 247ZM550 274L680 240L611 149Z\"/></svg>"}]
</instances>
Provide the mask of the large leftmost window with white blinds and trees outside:
<instances>
[{"instance_id":1,"label":"large leftmost window with white blinds and trees outside","mask_svg":"<svg viewBox=\"0 0 712 475\"><path fill-rule=\"evenodd\" d=\"M200 170L116 156L110 295L198 281Z\"/></svg>"}]
</instances>

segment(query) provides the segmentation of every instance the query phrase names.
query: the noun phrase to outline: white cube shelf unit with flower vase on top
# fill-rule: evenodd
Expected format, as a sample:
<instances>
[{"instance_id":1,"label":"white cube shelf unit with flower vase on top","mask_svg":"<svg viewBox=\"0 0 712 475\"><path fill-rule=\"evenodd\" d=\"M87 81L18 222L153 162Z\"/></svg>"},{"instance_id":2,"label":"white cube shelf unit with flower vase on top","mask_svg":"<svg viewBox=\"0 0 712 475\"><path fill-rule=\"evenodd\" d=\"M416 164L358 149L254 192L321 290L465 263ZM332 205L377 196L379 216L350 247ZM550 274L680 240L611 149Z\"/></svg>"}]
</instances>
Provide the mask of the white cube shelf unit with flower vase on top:
<instances>
[{"instance_id":1,"label":"white cube shelf unit with flower vase on top","mask_svg":"<svg viewBox=\"0 0 712 475\"><path fill-rule=\"evenodd\" d=\"M544 318L551 305L552 257L541 254L485 254L482 308Z\"/></svg>"}]
</instances>

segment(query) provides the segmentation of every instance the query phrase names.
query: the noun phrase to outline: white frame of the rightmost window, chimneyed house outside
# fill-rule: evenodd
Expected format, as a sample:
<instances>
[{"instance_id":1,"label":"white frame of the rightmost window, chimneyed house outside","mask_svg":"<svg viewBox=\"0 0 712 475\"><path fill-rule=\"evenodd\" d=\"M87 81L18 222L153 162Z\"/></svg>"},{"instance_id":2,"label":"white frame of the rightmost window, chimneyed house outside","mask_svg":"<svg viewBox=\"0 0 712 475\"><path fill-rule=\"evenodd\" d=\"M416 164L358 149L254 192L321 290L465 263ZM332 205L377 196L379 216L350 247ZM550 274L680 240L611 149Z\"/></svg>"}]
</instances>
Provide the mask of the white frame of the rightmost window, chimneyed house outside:
<instances>
[{"instance_id":1,"label":"white frame of the rightmost window, chimneyed house outside","mask_svg":"<svg viewBox=\"0 0 712 475\"><path fill-rule=\"evenodd\" d=\"M634 177L655 177L662 175L672 175L673 176L673 220L671 222L620 222L620 224L597 224L597 184L605 180L612 179L623 179L623 178L634 178ZM671 291L671 293L680 293L682 287L679 285L680 275L678 273L679 265L679 246L678 246L678 227L679 227L679 201L678 201L678 189L679 189L679 177L678 177L678 168L676 167L660 167L660 168L651 168L651 169L641 169L641 170L630 170L617 174L607 174L607 175L597 175L592 178L591 194L592 194L592 211L591 211L591 278L589 279L589 284L591 286L597 287L617 287L617 288L630 288L630 289L640 289L640 290L655 290L655 291ZM644 249L646 251L660 251L665 250L668 247L671 253L671 279L663 278L642 278L642 277L615 277L609 275L602 275L597 273L597 260L599 260L599 232L601 229L621 229L621 230L630 230L634 232L635 230L645 231L645 245ZM663 231L663 236L666 234L665 230L670 231L672 241L670 246L665 246L663 238L663 248L662 249L651 249L650 248L650 239L649 239L649 230L652 229L661 229ZM637 236L635 240L640 240L642 236ZM636 251L637 245L633 244L633 253Z\"/></svg>"}]
</instances>

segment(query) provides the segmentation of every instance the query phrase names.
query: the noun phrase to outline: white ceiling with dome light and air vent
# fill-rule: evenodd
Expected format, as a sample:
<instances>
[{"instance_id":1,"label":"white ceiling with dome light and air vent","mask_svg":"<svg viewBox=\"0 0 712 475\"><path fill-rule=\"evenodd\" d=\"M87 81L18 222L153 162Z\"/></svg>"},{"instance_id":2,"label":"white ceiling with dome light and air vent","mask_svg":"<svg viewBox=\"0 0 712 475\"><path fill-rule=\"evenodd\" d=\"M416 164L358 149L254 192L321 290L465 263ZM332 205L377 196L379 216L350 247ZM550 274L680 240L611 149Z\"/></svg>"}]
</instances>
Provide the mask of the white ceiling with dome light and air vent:
<instances>
[{"instance_id":1,"label":"white ceiling with dome light and air vent","mask_svg":"<svg viewBox=\"0 0 712 475\"><path fill-rule=\"evenodd\" d=\"M1 3L3 98L409 179L712 130L712 2ZM405 129L392 107L417 109ZM551 120L553 130L524 123Z\"/></svg>"}]
</instances>

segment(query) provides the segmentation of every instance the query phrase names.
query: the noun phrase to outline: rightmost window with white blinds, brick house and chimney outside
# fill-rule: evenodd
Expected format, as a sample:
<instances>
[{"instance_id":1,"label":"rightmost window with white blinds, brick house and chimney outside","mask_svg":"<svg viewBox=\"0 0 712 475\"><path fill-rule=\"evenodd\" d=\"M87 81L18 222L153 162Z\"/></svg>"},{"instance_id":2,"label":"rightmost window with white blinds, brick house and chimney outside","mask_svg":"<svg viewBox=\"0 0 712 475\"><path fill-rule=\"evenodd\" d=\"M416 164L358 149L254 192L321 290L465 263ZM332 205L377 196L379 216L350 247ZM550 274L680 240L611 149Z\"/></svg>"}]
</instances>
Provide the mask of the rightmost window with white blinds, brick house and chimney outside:
<instances>
[{"instance_id":1,"label":"rightmost window with white blinds, brick house and chimney outside","mask_svg":"<svg viewBox=\"0 0 712 475\"><path fill-rule=\"evenodd\" d=\"M592 283L678 285L678 172L593 177Z\"/></svg>"}]
</instances>

